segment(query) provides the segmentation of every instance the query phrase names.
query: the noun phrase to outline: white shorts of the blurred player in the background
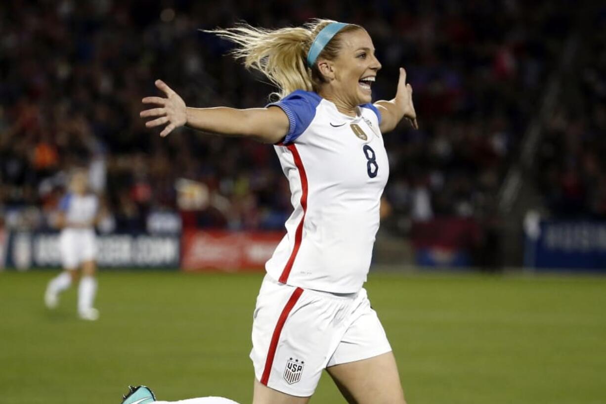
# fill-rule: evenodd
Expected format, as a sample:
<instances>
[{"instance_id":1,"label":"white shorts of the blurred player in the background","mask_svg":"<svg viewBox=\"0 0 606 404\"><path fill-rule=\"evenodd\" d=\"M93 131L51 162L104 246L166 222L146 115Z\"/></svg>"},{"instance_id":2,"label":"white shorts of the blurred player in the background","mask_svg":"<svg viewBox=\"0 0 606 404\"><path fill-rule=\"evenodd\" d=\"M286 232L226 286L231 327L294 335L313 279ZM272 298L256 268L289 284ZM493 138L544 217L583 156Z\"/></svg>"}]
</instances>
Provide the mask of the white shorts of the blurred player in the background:
<instances>
[{"instance_id":1,"label":"white shorts of the blurred player in the background","mask_svg":"<svg viewBox=\"0 0 606 404\"><path fill-rule=\"evenodd\" d=\"M76 269L85 261L95 261L97 257L95 231L64 229L59 236L59 248L64 269Z\"/></svg>"}]
</instances>

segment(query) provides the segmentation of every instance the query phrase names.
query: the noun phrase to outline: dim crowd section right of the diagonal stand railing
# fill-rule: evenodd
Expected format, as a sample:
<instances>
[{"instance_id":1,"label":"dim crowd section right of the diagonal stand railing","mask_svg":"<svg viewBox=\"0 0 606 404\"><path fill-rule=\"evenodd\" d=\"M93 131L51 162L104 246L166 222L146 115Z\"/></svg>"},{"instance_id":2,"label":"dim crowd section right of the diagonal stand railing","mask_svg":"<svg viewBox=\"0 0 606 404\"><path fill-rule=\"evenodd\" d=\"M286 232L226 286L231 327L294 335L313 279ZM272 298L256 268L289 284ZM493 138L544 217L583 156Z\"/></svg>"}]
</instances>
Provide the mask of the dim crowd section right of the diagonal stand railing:
<instances>
[{"instance_id":1,"label":"dim crowd section right of the diagonal stand railing","mask_svg":"<svg viewBox=\"0 0 606 404\"><path fill-rule=\"evenodd\" d=\"M606 219L606 5L592 18L538 153L536 183L558 218Z\"/></svg>"}]
</instances>

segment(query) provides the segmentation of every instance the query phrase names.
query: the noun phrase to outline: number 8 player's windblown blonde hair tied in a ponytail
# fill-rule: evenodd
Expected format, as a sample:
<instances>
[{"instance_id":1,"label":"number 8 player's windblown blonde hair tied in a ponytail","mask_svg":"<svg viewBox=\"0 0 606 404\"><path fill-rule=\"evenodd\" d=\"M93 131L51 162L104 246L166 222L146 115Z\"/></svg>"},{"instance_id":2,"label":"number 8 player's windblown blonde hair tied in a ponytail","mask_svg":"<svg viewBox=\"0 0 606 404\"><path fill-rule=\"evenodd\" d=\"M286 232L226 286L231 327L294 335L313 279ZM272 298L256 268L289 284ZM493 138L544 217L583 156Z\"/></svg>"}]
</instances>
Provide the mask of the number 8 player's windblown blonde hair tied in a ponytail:
<instances>
[{"instance_id":1,"label":"number 8 player's windblown blonde hair tied in a ponytail","mask_svg":"<svg viewBox=\"0 0 606 404\"><path fill-rule=\"evenodd\" d=\"M235 42L238 47L231 51L236 59L244 59L247 69L259 70L278 92L272 93L284 98L295 90L318 91L324 79L317 65L307 66L307 52L316 35L331 21L314 19L302 27L288 27L268 30L241 23L228 29L205 32L215 33L223 39ZM355 29L359 25L349 24L337 33L325 46L319 58L334 59L341 48L339 34Z\"/></svg>"}]
</instances>

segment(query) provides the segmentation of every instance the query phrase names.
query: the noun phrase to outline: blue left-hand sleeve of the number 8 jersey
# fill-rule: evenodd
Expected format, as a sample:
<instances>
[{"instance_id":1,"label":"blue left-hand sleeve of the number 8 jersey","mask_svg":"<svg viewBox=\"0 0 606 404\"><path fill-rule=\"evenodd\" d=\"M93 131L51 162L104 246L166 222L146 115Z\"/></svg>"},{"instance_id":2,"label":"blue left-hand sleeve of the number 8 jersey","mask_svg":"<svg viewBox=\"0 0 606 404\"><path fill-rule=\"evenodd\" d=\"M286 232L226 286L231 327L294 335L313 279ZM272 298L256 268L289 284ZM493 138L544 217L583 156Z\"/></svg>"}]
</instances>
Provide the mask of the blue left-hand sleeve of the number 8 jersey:
<instances>
[{"instance_id":1,"label":"blue left-hand sleeve of the number 8 jersey","mask_svg":"<svg viewBox=\"0 0 606 404\"><path fill-rule=\"evenodd\" d=\"M288 133L282 143L293 143L301 133L305 132L316 116L316 107L321 100L322 98L314 92L296 90L277 103L267 105L280 107L288 116Z\"/></svg>"}]
</instances>

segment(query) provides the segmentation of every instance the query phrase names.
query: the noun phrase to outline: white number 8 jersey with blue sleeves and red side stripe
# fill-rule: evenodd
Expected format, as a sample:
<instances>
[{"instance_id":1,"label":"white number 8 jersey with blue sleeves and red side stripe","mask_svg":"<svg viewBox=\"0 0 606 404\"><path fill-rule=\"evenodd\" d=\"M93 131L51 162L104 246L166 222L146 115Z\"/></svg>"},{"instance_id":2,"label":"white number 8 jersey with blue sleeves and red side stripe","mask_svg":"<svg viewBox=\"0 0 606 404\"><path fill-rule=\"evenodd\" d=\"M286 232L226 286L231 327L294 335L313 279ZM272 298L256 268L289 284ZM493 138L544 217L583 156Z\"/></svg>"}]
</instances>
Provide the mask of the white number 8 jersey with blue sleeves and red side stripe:
<instances>
[{"instance_id":1,"label":"white number 8 jersey with blue sleeves and red side stripe","mask_svg":"<svg viewBox=\"0 0 606 404\"><path fill-rule=\"evenodd\" d=\"M287 234L265 264L268 274L301 288L353 293L362 288L379 229L389 166L372 104L339 112L315 92L278 103L290 129L275 146L295 208Z\"/></svg>"}]
</instances>

